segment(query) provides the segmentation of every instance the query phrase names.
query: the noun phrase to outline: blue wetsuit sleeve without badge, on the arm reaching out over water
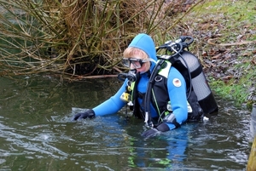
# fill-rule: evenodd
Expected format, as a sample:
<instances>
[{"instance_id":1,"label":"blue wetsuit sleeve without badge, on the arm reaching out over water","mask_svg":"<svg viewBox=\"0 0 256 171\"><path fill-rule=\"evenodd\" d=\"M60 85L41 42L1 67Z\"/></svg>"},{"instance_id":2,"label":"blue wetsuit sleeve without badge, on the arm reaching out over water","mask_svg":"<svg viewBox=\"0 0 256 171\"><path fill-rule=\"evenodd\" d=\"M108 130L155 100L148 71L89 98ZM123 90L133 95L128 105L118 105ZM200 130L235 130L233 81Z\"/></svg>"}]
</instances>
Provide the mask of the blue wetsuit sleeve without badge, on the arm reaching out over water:
<instances>
[{"instance_id":1,"label":"blue wetsuit sleeve without badge, on the arm reaching out over water","mask_svg":"<svg viewBox=\"0 0 256 171\"><path fill-rule=\"evenodd\" d=\"M123 83L119 91L114 94L111 98L104 101L102 104L97 105L92 110L95 112L96 116L103 116L108 114L113 114L118 112L122 107L125 106L125 102L120 99L121 94L125 92L127 80Z\"/></svg>"}]
</instances>

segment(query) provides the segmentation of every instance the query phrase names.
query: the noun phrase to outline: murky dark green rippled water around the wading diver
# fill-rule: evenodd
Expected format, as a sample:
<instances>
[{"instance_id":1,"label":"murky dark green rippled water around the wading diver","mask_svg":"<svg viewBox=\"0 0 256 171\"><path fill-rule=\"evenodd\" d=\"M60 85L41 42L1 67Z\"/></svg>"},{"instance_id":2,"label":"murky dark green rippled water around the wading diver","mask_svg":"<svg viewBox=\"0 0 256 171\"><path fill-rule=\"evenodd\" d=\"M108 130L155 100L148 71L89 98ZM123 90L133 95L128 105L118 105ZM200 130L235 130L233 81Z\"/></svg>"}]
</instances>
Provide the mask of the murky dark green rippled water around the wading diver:
<instances>
[{"instance_id":1,"label":"murky dark green rippled water around the wading diver","mask_svg":"<svg viewBox=\"0 0 256 171\"><path fill-rule=\"evenodd\" d=\"M119 88L116 78L60 83L0 78L0 170L245 170L250 111L218 100L218 116L144 140L143 121L71 122Z\"/></svg>"}]
</instances>

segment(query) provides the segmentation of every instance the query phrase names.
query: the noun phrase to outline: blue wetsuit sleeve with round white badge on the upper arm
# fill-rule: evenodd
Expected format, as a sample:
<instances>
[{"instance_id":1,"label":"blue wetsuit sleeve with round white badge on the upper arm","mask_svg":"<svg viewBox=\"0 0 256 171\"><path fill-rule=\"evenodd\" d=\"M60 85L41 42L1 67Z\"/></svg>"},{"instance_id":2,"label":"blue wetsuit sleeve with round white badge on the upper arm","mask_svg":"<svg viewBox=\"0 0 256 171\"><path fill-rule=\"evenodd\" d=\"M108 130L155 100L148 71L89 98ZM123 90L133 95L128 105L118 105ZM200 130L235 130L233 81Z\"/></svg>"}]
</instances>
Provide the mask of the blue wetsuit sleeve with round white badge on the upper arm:
<instances>
[{"instance_id":1,"label":"blue wetsuit sleeve with round white badge on the upper arm","mask_svg":"<svg viewBox=\"0 0 256 171\"><path fill-rule=\"evenodd\" d=\"M172 105L172 113L175 115L177 123L182 124L188 118L186 83L183 76L174 67L171 67L167 79L167 89ZM170 129L175 128L173 123L166 124Z\"/></svg>"}]
</instances>

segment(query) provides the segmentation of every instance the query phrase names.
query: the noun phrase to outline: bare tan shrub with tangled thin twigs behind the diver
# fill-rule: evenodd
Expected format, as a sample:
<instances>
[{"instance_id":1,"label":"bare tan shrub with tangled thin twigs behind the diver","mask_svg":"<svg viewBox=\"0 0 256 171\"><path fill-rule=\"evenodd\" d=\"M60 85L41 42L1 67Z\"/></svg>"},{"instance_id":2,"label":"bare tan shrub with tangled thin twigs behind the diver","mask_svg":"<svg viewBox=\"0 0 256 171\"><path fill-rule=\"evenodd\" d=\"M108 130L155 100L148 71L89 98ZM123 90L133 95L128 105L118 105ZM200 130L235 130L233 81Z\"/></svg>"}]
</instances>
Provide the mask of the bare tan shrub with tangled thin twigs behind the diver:
<instances>
[{"instance_id":1,"label":"bare tan shrub with tangled thin twigs behind the diver","mask_svg":"<svg viewBox=\"0 0 256 171\"><path fill-rule=\"evenodd\" d=\"M184 2L0 0L0 75L80 79L123 71L131 39L146 32L166 41L177 26L174 7L182 13Z\"/></svg>"}]
</instances>

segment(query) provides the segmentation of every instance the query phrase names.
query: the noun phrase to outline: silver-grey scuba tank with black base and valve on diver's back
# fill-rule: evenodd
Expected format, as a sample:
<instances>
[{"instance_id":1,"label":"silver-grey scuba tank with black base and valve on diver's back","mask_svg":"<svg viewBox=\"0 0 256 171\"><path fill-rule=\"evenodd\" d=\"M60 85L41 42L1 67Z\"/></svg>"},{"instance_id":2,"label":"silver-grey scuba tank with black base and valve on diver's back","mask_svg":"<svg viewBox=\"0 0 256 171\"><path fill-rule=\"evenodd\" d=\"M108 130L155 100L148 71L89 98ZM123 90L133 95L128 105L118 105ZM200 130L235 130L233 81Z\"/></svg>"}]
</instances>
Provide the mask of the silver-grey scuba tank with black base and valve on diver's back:
<instances>
[{"instance_id":1,"label":"silver-grey scuba tank with black base and valve on diver's back","mask_svg":"<svg viewBox=\"0 0 256 171\"><path fill-rule=\"evenodd\" d=\"M156 50L158 52L160 49L166 49L166 54L158 55L158 58L171 61L172 66L176 67L185 78L188 91L194 90L201 109L205 114L209 114L218 111L218 105L207 83L200 61L189 52L189 44L193 42L193 37L183 36L173 43L168 41L156 47Z\"/></svg>"}]
</instances>

